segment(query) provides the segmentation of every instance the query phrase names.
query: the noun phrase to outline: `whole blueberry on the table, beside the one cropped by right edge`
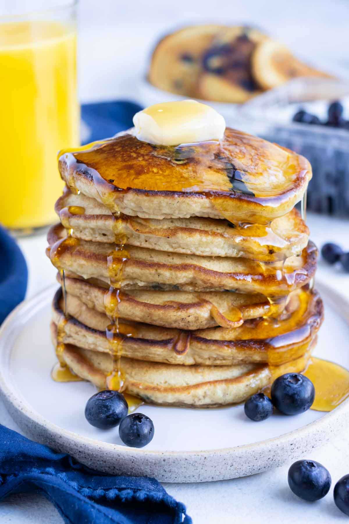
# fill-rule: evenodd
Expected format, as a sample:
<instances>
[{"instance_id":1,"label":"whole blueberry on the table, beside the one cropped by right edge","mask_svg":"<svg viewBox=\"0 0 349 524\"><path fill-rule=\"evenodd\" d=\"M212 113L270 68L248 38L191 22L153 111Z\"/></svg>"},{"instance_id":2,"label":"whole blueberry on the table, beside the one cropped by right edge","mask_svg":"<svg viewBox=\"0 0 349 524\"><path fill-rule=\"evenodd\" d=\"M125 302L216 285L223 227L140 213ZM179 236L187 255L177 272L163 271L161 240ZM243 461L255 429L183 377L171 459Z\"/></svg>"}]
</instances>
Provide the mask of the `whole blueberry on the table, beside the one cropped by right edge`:
<instances>
[{"instance_id":1,"label":"whole blueberry on the table, beside the one cropped by right edge","mask_svg":"<svg viewBox=\"0 0 349 524\"><path fill-rule=\"evenodd\" d=\"M288 470L288 485L304 500L319 500L329 493L331 475L319 462L298 460Z\"/></svg>"}]
</instances>

